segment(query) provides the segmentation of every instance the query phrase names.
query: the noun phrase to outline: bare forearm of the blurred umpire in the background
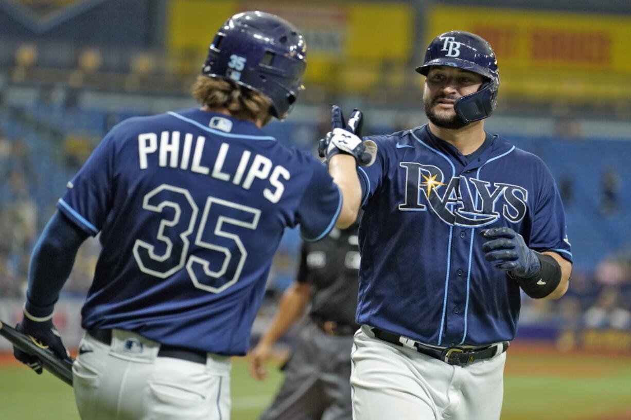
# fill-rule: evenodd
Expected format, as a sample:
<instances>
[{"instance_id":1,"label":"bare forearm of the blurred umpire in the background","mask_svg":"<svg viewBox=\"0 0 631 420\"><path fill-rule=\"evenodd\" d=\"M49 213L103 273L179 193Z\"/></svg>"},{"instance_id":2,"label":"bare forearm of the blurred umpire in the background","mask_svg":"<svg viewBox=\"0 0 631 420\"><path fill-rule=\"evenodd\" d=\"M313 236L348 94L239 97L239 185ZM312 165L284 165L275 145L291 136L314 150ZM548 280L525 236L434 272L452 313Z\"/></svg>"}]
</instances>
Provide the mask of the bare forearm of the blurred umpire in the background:
<instances>
[{"instance_id":1,"label":"bare forearm of the blurred umpire in the background","mask_svg":"<svg viewBox=\"0 0 631 420\"><path fill-rule=\"evenodd\" d=\"M292 283L278 303L278 310L268 330L261 337L261 343L271 346L285 334L286 330L302 315L309 303L309 285Z\"/></svg>"}]
</instances>

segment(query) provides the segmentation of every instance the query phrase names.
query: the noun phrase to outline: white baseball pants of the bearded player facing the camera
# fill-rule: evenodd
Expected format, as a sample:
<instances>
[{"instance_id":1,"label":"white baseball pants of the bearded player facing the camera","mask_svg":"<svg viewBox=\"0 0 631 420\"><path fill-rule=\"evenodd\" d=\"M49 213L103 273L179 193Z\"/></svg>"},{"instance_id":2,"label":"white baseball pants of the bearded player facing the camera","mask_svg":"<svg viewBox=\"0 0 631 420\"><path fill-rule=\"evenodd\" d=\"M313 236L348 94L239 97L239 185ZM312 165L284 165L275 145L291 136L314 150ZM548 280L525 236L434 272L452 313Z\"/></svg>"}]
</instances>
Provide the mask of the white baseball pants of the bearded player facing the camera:
<instances>
[{"instance_id":1,"label":"white baseball pants of the bearded player facing the camera","mask_svg":"<svg viewBox=\"0 0 631 420\"><path fill-rule=\"evenodd\" d=\"M498 420L506 354L468 366L399 347L367 325L351 354L355 420Z\"/></svg>"}]
</instances>

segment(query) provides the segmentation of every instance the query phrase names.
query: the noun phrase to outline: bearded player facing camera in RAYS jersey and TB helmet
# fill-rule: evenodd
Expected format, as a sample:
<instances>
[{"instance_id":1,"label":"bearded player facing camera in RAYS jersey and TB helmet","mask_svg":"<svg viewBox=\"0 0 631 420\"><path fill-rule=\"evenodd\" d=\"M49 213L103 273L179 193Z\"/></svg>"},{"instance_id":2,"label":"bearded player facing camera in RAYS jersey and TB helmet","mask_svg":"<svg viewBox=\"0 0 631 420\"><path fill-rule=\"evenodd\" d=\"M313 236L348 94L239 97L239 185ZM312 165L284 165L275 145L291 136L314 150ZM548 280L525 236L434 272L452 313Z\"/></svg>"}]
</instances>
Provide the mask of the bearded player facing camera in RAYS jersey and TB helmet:
<instances>
[{"instance_id":1,"label":"bearded player facing camera in RAYS jersey and TB helmet","mask_svg":"<svg viewBox=\"0 0 631 420\"><path fill-rule=\"evenodd\" d=\"M563 205L540 158L484 131L500 85L488 42L443 33L416 71L428 124L370 137L375 163L353 179L364 210L353 416L499 419L521 293L567 291ZM333 123L329 168L351 172L337 158L362 140L336 107Z\"/></svg>"}]
</instances>

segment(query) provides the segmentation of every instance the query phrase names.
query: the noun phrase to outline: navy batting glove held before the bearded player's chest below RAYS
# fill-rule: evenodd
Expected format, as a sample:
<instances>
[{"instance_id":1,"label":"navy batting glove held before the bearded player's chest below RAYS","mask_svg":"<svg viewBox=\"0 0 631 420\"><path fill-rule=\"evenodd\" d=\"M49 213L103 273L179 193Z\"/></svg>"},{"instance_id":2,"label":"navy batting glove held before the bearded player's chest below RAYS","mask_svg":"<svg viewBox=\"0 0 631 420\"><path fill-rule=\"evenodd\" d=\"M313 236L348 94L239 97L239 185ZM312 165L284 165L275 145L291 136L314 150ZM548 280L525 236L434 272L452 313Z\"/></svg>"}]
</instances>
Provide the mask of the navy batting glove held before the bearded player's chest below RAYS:
<instances>
[{"instance_id":1,"label":"navy batting glove held before the bearded player's chest below RAYS","mask_svg":"<svg viewBox=\"0 0 631 420\"><path fill-rule=\"evenodd\" d=\"M495 268L524 279L537 276L541 263L519 233L505 226L480 231L490 241L482 245L485 259Z\"/></svg>"}]
</instances>

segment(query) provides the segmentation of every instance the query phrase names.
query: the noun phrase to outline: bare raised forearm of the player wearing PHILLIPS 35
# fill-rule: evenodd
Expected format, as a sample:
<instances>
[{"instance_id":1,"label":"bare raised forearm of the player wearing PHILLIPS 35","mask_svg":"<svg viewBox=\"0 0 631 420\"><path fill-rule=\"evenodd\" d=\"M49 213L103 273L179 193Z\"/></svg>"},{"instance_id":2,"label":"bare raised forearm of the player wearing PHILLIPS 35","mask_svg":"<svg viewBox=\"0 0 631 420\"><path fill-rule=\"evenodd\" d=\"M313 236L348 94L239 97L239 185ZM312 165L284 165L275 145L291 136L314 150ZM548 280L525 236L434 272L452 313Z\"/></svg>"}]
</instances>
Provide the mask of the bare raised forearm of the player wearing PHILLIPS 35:
<instances>
[{"instance_id":1,"label":"bare raised forearm of the player wearing PHILLIPS 35","mask_svg":"<svg viewBox=\"0 0 631 420\"><path fill-rule=\"evenodd\" d=\"M329 173L342 192L342 209L335 226L345 229L357 219L362 202L362 187L357 177L355 158L341 153L333 156L329 161Z\"/></svg>"}]
</instances>

